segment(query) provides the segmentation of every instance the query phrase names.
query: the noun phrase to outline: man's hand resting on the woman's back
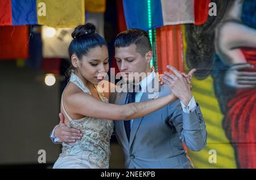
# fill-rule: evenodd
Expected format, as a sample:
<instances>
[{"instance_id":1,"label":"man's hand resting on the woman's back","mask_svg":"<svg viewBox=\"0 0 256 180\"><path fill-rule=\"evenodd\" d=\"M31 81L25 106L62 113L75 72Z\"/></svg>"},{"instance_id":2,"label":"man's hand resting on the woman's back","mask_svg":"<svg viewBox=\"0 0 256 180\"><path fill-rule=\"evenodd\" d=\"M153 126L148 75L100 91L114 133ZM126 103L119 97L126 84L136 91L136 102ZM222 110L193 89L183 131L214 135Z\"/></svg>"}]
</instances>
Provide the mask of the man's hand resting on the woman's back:
<instances>
[{"instance_id":1,"label":"man's hand resting on the woman's back","mask_svg":"<svg viewBox=\"0 0 256 180\"><path fill-rule=\"evenodd\" d=\"M65 143L74 143L77 139L81 139L81 131L76 128L67 127L64 124L64 115L62 113L59 114L60 123L55 128L54 134L56 138L59 138L61 142Z\"/></svg>"}]
</instances>

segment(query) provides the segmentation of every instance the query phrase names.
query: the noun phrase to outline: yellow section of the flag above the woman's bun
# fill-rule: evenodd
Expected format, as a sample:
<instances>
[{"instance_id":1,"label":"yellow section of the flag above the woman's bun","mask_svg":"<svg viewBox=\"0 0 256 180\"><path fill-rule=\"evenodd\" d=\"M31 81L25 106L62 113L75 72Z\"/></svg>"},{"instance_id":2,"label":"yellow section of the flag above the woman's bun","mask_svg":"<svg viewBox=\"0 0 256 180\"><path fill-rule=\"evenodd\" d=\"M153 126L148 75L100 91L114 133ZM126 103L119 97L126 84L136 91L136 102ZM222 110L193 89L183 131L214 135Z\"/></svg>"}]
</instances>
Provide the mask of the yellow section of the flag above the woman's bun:
<instances>
[{"instance_id":1,"label":"yellow section of the flag above the woman's bun","mask_svg":"<svg viewBox=\"0 0 256 180\"><path fill-rule=\"evenodd\" d=\"M77 27L85 24L84 0L36 0L38 24Z\"/></svg>"}]
</instances>

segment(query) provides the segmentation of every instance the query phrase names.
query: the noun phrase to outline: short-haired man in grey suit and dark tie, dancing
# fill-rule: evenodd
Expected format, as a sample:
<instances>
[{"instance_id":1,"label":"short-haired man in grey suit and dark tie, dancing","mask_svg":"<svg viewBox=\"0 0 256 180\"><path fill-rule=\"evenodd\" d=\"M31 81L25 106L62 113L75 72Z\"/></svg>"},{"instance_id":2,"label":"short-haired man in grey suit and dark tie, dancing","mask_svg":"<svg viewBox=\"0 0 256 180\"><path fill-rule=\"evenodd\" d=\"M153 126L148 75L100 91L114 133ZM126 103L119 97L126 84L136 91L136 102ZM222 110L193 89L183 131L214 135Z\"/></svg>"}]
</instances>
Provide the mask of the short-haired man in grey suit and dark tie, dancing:
<instances>
[{"instance_id":1,"label":"short-haired man in grey suit and dark tie, dancing","mask_svg":"<svg viewBox=\"0 0 256 180\"><path fill-rule=\"evenodd\" d=\"M115 121L115 136L125 155L125 168L193 168L182 142L192 151L200 151L207 144L207 131L199 105L183 75L173 67L169 68L174 74L164 73L163 85L155 84L151 58L151 44L146 32L127 29L116 37L115 59L122 78L133 81L129 79L131 72L149 74L140 80L140 91L135 94L135 102L155 98L155 93L158 97L166 96L170 94L170 88L179 98L142 118ZM159 91L149 91L152 86L158 86ZM128 101L131 102L127 92L111 93L109 99L114 104L126 104ZM68 128L61 122L51 134L53 142L57 138L75 142L80 136L78 130Z\"/></svg>"}]
</instances>

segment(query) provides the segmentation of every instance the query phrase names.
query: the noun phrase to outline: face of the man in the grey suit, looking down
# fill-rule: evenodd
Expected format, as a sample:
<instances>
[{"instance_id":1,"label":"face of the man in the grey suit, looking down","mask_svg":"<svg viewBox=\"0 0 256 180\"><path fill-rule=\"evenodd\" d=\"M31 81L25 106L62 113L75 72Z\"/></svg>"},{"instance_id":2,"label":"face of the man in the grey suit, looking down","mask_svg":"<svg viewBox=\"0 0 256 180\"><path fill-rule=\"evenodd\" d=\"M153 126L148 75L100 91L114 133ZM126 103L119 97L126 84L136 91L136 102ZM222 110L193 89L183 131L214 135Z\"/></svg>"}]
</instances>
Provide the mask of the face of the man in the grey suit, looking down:
<instances>
[{"instance_id":1,"label":"face of the man in the grey suit, looking down","mask_svg":"<svg viewBox=\"0 0 256 180\"><path fill-rule=\"evenodd\" d=\"M129 78L129 73L138 72L141 74L141 72L146 72L148 65L146 55L142 57L136 51L135 44L125 48L115 48L115 59L117 60L117 66L122 74L123 80L133 81L133 78Z\"/></svg>"}]
</instances>

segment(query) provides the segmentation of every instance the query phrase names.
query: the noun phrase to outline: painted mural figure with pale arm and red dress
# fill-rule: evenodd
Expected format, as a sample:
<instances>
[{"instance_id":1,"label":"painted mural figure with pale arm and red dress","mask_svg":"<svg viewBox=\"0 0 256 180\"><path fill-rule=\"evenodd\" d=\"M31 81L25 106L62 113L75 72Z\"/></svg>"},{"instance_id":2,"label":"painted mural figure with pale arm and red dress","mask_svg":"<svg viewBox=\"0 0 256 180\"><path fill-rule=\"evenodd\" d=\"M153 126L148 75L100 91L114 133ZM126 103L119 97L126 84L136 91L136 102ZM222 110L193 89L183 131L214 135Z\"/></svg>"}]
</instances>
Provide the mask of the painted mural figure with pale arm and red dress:
<instances>
[{"instance_id":1,"label":"painted mural figure with pale arm and red dress","mask_svg":"<svg viewBox=\"0 0 256 180\"><path fill-rule=\"evenodd\" d=\"M216 28L215 47L221 60L230 65L224 83L237 90L228 101L226 134L234 143L238 166L256 168L256 29L242 21L244 3L236 0L226 11Z\"/></svg>"}]
</instances>

